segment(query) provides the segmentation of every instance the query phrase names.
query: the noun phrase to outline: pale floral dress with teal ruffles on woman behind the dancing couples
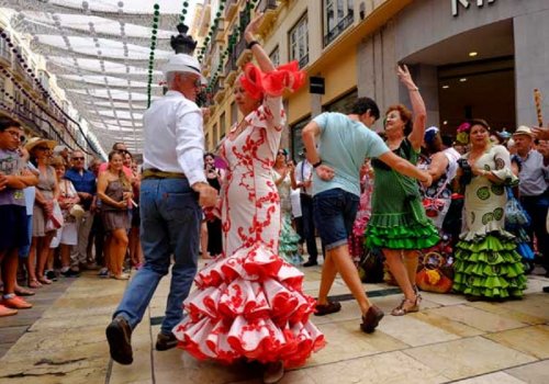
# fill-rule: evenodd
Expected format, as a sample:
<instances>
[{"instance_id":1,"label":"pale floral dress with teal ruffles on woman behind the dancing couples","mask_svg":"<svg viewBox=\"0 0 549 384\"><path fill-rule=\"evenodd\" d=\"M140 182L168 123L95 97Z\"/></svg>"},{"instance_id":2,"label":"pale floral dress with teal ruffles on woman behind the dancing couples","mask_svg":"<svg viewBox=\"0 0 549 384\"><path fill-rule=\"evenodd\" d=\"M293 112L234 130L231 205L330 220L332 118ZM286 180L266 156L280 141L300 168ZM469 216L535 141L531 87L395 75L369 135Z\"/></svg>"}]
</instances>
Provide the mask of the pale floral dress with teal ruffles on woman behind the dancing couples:
<instances>
[{"instance_id":1,"label":"pale floral dress with teal ruffles on woman behind the dancing couples","mask_svg":"<svg viewBox=\"0 0 549 384\"><path fill-rule=\"evenodd\" d=\"M273 169L273 179L280 179L280 174ZM293 266L299 266L303 262L299 252L300 236L292 227L292 204L290 202L291 180L290 174L287 174L284 180L277 185L280 196L280 240L278 246L278 255Z\"/></svg>"}]
</instances>

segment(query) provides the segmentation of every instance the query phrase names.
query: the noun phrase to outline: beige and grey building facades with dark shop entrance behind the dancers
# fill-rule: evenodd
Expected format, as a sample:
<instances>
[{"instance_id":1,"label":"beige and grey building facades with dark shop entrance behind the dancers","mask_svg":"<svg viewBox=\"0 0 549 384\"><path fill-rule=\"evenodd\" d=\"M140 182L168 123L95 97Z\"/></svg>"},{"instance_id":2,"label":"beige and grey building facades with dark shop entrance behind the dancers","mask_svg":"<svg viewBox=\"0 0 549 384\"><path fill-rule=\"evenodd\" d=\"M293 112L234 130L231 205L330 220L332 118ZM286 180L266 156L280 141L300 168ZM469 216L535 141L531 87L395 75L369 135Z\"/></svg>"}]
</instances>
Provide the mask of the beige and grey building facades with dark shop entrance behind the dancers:
<instances>
[{"instance_id":1,"label":"beige and grey building facades with dark shop entrance behind the dancers","mask_svg":"<svg viewBox=\"0 0 549 384\"><path fill-rule=\"evenodd\" d=\"M199 57L211 79L210 149L242 118L234 80L250 59L242 32L256 11L266 13L260 37L273 61L298 60L310 77L307 87L284 98L282 146L294 158L311 116L346 113L363 95L382 111L410 104L396 77L399 63L408 65L421 88L428 124L448 134L470 117L485 118L495 131L537 125L534 89L549 101L547 0L226 0L220 5L222 11L211 11L212 22L222 14L215 33ZM381 131L381 124L373 128Z\"/></svg>"}]
</instances>

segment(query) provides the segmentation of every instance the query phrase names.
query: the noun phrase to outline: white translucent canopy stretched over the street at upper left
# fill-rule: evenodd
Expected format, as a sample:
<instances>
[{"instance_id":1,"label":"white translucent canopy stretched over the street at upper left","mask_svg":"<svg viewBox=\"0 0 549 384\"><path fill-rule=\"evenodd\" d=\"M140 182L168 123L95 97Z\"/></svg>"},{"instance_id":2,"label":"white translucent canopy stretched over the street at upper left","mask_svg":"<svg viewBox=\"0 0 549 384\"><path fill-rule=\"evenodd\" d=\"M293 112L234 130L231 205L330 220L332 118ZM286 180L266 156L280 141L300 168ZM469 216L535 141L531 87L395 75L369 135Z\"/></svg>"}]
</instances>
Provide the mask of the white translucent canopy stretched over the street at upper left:
<instances>
[{"instance_id":1,"label":"white translucent canopy stretched over the street at upper left","mask_svg":"<svg viewBox=\"0 0 549 384\"><path fill-rule=\"evenodd\" d=\"M0 0L10 24L31 41L67 99L88 122L104 150L124 142L142 153L142 117L147 108L154 5L159 20L154 52L152 100L161 95L161 67L170 36L191 0ZM183 11L184 10L184 11Z\"/></svg>"}]
</instances>

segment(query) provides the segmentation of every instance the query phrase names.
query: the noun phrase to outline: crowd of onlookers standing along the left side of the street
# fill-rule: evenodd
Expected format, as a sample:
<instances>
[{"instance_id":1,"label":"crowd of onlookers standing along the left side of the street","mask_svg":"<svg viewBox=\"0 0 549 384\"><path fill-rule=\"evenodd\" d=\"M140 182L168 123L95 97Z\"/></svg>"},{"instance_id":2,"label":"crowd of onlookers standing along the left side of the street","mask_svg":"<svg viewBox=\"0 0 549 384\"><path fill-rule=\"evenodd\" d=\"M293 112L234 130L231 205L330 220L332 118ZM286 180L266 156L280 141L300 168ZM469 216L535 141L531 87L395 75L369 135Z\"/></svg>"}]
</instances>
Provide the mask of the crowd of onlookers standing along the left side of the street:
<instances>
[{"instance_id":1,"label":"crowd of onlookers standing along the left side of the street","mask_svg":"<svg viewBox=\"0 0 549 384\"><path fill-rule=\"evenodd\" d=\"M88 157L87 165L82 150L0 123L0 178L10 178L0 179L0 317L32 307L24 296L82 270L127 280L143 252L139 167L125 145L114 144L108 162Z\"/></svg>"}]
</instances>

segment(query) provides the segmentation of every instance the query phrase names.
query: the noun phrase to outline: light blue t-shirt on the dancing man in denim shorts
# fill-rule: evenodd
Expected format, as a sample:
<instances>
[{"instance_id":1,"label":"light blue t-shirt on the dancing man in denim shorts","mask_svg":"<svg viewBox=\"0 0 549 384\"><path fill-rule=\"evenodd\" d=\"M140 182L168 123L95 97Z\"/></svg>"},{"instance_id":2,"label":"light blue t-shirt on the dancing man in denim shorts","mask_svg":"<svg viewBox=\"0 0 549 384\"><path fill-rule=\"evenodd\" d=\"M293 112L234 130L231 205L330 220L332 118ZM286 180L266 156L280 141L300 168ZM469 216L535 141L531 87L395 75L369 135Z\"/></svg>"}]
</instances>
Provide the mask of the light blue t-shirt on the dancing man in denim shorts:
<instances>
[{"instance_id":1,"label":"light blue t-shirt on the dancing man in denim shorts","mask_svg":"<svg viewBox=\"0 0 549 384\"><path fill-rule=\"evenodd\" d=\"M318 153L322 163L335 170L334 179L323 181L314 172L313 194L340 188L360 196L360 167L366 158L389 151L381 137L360 122L337 112L325 112L313 120L321 128Z\"/></svg>"}]
</instances>

